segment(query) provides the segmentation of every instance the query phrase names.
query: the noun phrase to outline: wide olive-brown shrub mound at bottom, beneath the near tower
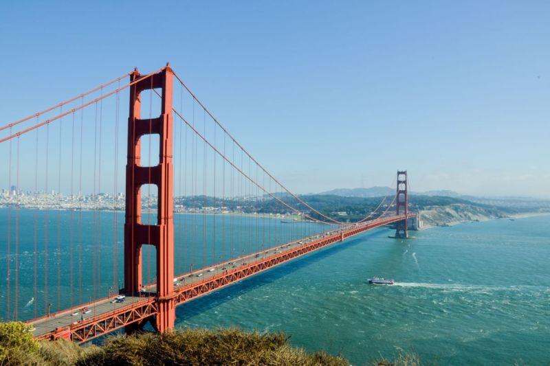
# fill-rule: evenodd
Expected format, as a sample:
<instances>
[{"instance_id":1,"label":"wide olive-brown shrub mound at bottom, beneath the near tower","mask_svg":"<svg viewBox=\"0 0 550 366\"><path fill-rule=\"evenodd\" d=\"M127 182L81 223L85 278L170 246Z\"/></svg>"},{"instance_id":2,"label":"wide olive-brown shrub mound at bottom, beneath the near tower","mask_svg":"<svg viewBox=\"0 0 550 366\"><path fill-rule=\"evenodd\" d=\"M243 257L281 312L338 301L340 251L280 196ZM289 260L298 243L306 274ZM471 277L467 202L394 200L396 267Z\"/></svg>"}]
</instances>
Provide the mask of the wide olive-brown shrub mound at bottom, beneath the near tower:
<instances>
[{"instance_id":1,"label":"wide olive-brown shrub mound at bottom, beneath the near tower","mask_svg":"<svg viewBox=\"0 0 550 366\"><path fill-rule=\"evenodd\" d=\"M307 354L283 333L239 329L183 330L167 334L116 336L78 365L348 365L340 357Z\"/></svg>"}]
</instances>

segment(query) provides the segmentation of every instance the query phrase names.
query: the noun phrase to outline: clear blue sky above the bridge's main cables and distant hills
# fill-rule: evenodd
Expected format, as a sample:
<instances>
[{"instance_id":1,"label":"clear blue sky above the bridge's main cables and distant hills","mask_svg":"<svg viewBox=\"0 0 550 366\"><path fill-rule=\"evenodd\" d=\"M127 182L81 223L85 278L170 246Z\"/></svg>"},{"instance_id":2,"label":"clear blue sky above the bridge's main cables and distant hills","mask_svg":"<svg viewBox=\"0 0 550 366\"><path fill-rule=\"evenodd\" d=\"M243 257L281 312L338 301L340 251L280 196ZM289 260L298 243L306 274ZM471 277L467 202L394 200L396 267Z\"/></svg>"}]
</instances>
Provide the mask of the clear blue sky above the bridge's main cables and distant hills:
<instances>
[{"instance_id":1,"label":"clear blue sky above the bridge's main cables and distant hills","mask_svg":"<svg viewBox=\"0 0 550 366\"><path fill-rule=\"evenodd\" d=\"M3 1L0 118L170 61L298 193L550 196L548 1Z\"/></svg>"}]
</instances>

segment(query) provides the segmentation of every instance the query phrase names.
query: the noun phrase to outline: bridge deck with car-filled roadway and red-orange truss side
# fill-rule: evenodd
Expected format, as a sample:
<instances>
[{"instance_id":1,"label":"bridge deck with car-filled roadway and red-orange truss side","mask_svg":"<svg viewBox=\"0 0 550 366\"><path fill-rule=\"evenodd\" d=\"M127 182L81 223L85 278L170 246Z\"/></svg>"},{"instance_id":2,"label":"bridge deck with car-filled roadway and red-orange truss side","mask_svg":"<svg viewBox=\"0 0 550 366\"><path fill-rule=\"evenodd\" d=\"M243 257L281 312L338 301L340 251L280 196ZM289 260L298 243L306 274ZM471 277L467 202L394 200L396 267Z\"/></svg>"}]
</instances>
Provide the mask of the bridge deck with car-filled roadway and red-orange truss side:
<instances>
[{"instance_id":1,"label":"bridge deck with car-filled roadway and red-orange truss side","mask_svg":"<svg viewBox=\"0 0 550 366\"><path fill-rule=\"evenodd\" d=\"M409 218L414 216L414 213L408 214ZM340 242L358 233L403 220L404 217L404 215L388 216L369 220L362 224L341 227L244 255L212 267L200 268L184 275L178 275L174 279L175 295L173 299L175 305L183 304L190 299L239 282L250 275L316 251L329 244ZM126 296L121 303L115 302L114 297L117 294L113 294L111 297L62 310L50 314L49 317L33 319L28 323L32 325L32 334L37 339L63 337L77 342L89 341L131 323L144 321L154 315L157 312L155 291L155 284L146 286L139 296ZM85 312L83 308L85 308Z\"/></svg>"}]
</instances>

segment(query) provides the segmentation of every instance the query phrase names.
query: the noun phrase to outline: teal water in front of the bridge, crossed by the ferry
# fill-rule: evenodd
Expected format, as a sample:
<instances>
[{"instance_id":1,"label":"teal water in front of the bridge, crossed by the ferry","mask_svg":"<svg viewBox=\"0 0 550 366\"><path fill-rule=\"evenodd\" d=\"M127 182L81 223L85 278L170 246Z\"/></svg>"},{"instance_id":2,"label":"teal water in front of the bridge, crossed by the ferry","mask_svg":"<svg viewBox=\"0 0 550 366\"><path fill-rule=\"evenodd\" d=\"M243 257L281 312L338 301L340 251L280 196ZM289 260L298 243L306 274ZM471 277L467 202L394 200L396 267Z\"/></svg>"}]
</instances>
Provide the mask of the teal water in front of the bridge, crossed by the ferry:
<instances>
[{"instance_id":1,"label":"teal water in front of the bridge, crossed by the ferry","mask_svg":"<svg viewBox=\"0 0 550 366\"><path fill-rule=\"evenodd\" d=\"M550 216L387 238L380 229L177 308L177 326L283 330L354 365L550 362ZM395 286L365 283L371 275Z\"/></svg>"}]
</instances>

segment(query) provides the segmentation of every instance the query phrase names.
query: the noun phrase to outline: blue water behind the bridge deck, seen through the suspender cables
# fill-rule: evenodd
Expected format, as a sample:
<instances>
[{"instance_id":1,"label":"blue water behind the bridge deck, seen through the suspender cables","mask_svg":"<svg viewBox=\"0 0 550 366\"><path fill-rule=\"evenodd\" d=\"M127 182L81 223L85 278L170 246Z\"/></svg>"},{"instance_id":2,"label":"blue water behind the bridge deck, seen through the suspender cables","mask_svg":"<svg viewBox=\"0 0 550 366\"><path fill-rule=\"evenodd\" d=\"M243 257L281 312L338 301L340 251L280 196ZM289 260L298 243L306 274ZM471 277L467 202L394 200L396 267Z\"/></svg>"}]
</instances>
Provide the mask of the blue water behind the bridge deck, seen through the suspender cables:
<instances>
[{"instance_id":1,"label":"blue water behind the bridge deck, seen through the suspender cables","mask_svg":"<svg viewBox=\"0 0 550 366\"><path fill-rule=\"evenodd\" d=\"M142 220L156 218L144 212ZM175 214L175 273L208 268L328 228L274 217ZM124 212L0 209L0 320L16 319L16 308L17 319L28 320L46 314L48 304L56 312L117 292L124 279L123 241ZM143 284L155 281L155 267L155 249L144 245Z\"/></svg>"}]
</instances>

